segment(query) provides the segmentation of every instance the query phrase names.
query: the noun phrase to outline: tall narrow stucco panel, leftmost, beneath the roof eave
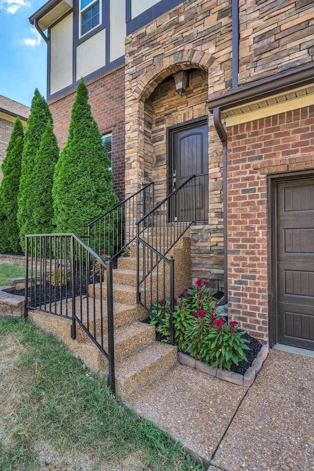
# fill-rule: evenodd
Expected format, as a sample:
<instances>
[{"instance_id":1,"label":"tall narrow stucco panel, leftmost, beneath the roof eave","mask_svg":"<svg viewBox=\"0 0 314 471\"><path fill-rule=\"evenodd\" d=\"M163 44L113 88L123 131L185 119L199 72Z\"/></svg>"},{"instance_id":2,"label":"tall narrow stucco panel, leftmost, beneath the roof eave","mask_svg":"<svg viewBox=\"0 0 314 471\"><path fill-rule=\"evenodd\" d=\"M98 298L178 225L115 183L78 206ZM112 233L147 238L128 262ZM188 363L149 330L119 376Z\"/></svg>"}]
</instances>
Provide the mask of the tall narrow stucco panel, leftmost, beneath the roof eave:
<instances>
[{"instance_id":1,"label":"tall narrow stucco panel, leftmost, beneath the roof eave","mask_svg":"<svg viewBox=\"0 0 314 471\"><path fill-rule=\"evenodd\" d=\"M71 85L73 61L73 13L50 32L50 94Z\"/></svg>"}]
</instances>

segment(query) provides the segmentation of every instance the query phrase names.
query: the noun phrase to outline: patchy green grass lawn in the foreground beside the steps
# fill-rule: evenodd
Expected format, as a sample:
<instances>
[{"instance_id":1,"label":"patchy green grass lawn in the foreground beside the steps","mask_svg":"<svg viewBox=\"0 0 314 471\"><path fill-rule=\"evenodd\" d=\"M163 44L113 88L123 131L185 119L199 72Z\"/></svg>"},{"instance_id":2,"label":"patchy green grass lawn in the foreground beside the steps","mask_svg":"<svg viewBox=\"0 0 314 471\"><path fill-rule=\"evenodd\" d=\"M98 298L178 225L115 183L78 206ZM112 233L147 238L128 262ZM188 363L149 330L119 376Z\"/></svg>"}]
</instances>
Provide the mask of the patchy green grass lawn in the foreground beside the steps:
<instances>
[{"instance_id":1,"label":"patchy green grass lawn in the foreground beside the steps","mask_svg":"<svg viewBox=\"0 0 314 471\"><path fill-rule=\"evenodd\" d=\"M30 321L0 319L0 470L204 470Z\"/></svg>"}]
</instances>

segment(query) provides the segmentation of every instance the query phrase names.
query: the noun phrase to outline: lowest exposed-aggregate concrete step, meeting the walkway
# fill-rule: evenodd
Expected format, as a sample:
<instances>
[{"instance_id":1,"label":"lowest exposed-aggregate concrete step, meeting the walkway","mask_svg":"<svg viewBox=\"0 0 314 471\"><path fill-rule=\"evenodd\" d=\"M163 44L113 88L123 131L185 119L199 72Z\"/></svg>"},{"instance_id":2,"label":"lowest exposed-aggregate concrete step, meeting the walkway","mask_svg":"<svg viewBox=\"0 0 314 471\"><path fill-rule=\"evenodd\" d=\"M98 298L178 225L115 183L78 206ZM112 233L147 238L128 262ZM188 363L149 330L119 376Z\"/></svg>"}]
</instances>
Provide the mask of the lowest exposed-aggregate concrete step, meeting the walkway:
<instances>
[{"instance_id":1,"label":"lowest exposed-aggregate concrete step, meeting the walkway","mask_svg":"<svg viewBox=\"0 0 314 471\"><path fill-rule=\"evenodd\" d=\"M115 366L116 393L130 397L137 389L155 381L177 362L177 347L154 342Z\"/></svg>"}]
</instances>

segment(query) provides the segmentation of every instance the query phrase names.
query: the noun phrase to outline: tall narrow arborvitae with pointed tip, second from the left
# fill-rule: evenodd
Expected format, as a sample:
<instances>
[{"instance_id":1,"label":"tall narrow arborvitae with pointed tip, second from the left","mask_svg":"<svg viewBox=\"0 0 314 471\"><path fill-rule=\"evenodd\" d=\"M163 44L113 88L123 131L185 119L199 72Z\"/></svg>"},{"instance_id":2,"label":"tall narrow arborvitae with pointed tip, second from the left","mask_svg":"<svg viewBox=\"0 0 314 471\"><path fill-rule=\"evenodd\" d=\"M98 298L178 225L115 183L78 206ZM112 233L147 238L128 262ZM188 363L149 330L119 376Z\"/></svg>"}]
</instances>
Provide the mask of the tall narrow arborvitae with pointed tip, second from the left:
<instances>
[{"instance_id":1,"label":"tall narrow arborvitae with pointed tip, second from the left","mask_svg":"<svg viewBox=\"0 0 314 471\"><path fill-rule=\"evenodd\" d=\"M22 247L25 246L25 235L32 233L32 213L37 206L37 202L33 197L36 184L34 165L37 151L48 122L52 123L52 114L44 97L40 95L36 88L31 102L31 112L25 132L25 143L22 154L22 174L18 196L18 224L20 226Z\"/></svg>"}]
</instances>

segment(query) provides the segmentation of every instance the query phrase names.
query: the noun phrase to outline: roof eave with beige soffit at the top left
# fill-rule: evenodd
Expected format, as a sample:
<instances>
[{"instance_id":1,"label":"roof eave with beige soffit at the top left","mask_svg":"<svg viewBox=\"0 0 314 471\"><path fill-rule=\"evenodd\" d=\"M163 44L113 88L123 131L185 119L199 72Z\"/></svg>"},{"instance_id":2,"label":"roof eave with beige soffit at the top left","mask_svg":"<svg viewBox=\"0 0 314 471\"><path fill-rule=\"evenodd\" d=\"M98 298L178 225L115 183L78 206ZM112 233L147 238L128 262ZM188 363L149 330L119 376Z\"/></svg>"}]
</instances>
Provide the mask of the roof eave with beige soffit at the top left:
<instances>
[{"instance_id":1,"label":"roof eave with beige soffit at the top left","mask_svg":"<svg viewBox=\"0 0 314 471\"><path fill-rule=\"evenodd\" d=\"M29 22L45 31L73 8L73 0L49 0L29 17Z\"/></svg>"}]
</instances>

